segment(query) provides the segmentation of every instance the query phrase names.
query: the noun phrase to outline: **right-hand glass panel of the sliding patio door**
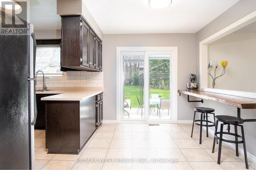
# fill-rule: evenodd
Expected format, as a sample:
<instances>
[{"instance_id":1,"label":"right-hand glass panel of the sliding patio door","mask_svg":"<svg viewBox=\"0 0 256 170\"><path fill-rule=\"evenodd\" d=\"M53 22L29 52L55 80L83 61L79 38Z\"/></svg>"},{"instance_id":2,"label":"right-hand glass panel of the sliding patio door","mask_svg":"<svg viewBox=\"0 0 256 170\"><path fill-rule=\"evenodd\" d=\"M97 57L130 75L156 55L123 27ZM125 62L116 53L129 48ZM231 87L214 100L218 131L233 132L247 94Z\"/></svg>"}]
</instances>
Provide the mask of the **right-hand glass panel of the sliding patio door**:
<instances>
[{"instance_id":1,"label":"right-hand glass panel of the sliding patio door","mask_svg":"<svg viewBox=\"0 0 256 170\"><path fill-rule=\"evenodd\" d=\"M148 54L148 118L170 119L170 54Z\"/></svg>"}]
</instances>

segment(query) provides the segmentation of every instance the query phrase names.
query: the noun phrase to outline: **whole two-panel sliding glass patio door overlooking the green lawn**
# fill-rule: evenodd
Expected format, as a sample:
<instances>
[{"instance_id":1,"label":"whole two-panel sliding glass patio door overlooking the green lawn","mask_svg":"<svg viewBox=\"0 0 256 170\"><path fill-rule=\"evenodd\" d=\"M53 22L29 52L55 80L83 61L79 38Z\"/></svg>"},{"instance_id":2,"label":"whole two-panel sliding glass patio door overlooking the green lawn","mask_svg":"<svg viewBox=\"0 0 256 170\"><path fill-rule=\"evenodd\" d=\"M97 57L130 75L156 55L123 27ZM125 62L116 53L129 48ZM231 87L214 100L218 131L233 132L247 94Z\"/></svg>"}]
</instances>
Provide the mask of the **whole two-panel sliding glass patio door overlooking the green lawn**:
<instances>
[{"instance_id":1,"label":"whole two-panel sliding glass patio door overlooking the green lawn","mask_svg":"<svg viewBox=\"0 0 256 170\"><path fill-rule=\"evenodd\" d=\"M174 89L177 88L177 82L174 83L173 78L177 80L177 60L173 60L172 57L176 56L176 53L145 50L120 51L118 54L120 57L117 61L117 64L120 63L117 72L117 80L120 81L117 83L119 120L175 121L177 91Z\"/></svg>"}]
</instances>

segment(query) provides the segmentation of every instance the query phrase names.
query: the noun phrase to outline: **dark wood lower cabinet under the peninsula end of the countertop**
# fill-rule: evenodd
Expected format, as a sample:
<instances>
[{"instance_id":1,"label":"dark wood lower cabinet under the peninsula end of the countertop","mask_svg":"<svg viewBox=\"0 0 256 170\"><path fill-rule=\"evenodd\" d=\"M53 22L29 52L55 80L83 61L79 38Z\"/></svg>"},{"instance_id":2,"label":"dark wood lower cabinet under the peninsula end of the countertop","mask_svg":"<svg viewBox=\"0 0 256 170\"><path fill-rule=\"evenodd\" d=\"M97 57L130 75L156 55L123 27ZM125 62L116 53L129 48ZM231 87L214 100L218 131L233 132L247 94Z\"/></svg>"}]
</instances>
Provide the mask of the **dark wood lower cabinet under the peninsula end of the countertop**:
<instances>
[{"instance_id":1,"label":"dark wood lower cabinet under the peninsula end of the countertop","mask_svg":"<svg viewBox=\"0 0 256 170\"><path fill-rule=\"evenodd\" d=\"M96 130L95 96L46 103L48 153L79 154Z\"/></svg>"}]
</instances>

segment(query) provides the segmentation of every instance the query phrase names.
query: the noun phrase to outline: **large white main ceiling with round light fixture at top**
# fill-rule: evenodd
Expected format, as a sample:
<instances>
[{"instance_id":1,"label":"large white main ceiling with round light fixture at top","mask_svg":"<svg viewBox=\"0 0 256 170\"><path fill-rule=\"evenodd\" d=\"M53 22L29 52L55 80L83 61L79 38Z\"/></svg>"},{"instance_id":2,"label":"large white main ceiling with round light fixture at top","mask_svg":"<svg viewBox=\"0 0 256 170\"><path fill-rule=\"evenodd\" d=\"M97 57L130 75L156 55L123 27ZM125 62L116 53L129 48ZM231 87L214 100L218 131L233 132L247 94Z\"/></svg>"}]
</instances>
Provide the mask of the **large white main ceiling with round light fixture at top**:
<instances>
[{"instance_id":1,"label":"large white main ceiling with round light fixture at top","mask_svg":"<svg viewBox=\"0 0 256 170\"><path fill-rule=\"evenodd\" d=\"M196 33L239 0L173 0L153 9L148 0L83 0L103 34Z\"/></svg>"}]
</instances>

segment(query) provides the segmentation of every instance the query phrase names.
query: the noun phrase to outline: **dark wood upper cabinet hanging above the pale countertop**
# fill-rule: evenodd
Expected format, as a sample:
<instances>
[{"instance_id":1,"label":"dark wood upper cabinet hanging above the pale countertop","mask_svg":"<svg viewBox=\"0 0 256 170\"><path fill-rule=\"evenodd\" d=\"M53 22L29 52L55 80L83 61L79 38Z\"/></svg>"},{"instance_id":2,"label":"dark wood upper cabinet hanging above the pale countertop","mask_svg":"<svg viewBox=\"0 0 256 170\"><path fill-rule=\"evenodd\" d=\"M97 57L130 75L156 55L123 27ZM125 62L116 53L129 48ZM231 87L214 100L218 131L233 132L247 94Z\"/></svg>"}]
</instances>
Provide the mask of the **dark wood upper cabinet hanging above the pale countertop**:
<instances>
[{"instance_id":1,"label":"dark wood upper cabinet hanging above the pale countertop","mask_svg":"<svg viewBox=\"0 0 256 170\"><path fill-rule=\"evenodd\" d=\"M102 71L102 41L81 15L61 16L61 70Z\"/></svg>"}]
</instances>

